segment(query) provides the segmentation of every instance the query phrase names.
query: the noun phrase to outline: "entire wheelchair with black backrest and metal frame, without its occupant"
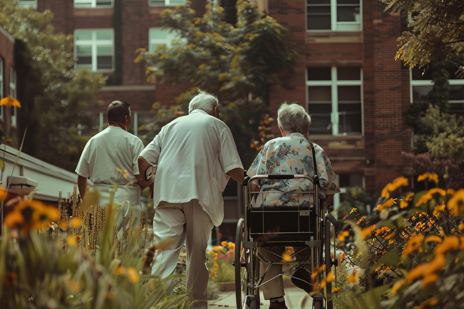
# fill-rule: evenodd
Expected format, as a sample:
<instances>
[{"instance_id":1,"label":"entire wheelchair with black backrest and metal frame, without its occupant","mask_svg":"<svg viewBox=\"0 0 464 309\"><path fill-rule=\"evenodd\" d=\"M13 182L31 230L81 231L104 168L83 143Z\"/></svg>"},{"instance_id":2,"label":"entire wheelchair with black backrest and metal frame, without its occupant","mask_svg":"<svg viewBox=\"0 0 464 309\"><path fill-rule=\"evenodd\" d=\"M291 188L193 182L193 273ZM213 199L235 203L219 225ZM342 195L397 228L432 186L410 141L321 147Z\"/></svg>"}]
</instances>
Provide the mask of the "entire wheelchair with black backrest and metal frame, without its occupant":
<instances>
[{"instance_id":1,"label":"entire wheelchair with black backrest and metal frame, without its occupant","mask_svg":"<svg viewBox=\"0 0 464 309\"><path fill-rule=\"evenodd\" d=\"M280 190L251 192L251 183L255 179L298 179L307 178L314 184L313 191L292 191L292 194L298 195L298 206L285 207L252 207L251 198L253 195L259 194L282 194L290 193ZM335 267L335 287L337 285L336 277L336 248L335 248L335 233L338 227L338 221L330 214L327 209L323 209L322 202L319 199L317 175L313 178L307 175L256 175L253 177L245 177L243 184L244 196L244 218L238 220L237 230L235 235L235 293L237 300L237 308L241 309L258 309L262 303L260 302L259 288L276 279L280 276L289 276L285 271L282 271L278 276L264 281L264 276L271 265L291 265L288 269L299 265L306 264L309 266L311 274L320 269L325 264L325 271L320 271L311 286L315 288L316 294L313 295L313 309L332 309L332 281L326 283L324 288L321 286L322 281L325 281L326 276L332 271L332 266ZM299 196L306 194L309 196L307 204L300 205ZM312 195L312 198L311 198ZM333 230L333 252L334 259L331 258L331 226ZM289 262L271 262L266 261L258 252L259 247L270 246L307 246L311 252L310 262L308 261L289 261ZM267 250L267 249L264 249ZM325 254L324 254L325 252ZM293 253L290 257L298 252ZM263 268L263 276L260 277L260 267ZM287 269L287 270L288 270ZM293 277L297 280L300 278ZM317 284L316 284L317 283Z\"/></svg>"}]
</instances>

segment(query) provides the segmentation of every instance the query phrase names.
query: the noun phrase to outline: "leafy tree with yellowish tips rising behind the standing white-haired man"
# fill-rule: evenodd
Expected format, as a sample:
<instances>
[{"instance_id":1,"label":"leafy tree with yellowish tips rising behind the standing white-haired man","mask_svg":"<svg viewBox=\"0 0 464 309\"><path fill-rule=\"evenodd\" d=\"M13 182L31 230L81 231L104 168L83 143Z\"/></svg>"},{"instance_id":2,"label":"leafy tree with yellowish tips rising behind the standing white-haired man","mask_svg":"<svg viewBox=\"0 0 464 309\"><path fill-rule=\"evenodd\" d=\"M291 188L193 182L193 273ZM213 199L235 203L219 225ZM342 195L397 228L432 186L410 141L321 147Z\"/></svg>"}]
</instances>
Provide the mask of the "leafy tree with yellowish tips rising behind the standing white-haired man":
<instances>
[{"instance_id":1,"label":"leafy tree with yellowish tips rising behind the standing white-haired man","mask_svg":"<svg viewBox=\"0 0 464 309\"><path fill-rule=\"evenodd\" d=\"M267 109L268 87L278 82L277 72L290 69L296 52L285 40L286 29L258 10L253 2L237 2L237 24L228 24L224 8L206 6L203 17L186 6L161 12L161 23L176 32L172 47L159 45L153 54L139 50L135 62L145 60L148 79L161 83L190 83L176 107L154 106L155 123L146 126L152 138L175 112L187 112L196 89L219 98L221 118L231 128L239 153L252 157L249 141ZM246 115L246 118L244 118ZM160 117L161 116L161 117ZM178 114L180 116L180 114Z\"/></svg>"}]
</instances>

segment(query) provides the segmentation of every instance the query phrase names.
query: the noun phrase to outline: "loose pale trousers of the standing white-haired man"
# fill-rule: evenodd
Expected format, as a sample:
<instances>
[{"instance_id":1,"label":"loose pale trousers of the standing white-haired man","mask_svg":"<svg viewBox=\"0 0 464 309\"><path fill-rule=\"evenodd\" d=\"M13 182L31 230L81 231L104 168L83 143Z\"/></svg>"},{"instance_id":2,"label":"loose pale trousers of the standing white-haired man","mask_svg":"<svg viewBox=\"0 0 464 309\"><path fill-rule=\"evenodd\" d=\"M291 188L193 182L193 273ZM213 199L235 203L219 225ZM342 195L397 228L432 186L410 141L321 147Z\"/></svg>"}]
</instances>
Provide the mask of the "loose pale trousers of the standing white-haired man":
<instances>
[{"instance_id":1,"label":"loose pale trousers of the standing white-haired man","mask_svg":"<svg viewBox=\"0 0 464 309\"><path fill-rule=\"evenodd\" d=\"M171 239L174 242L155 252L152 275L165 278L171 275L179 259L180 248L187 249L187 291L194 308L207 308L209 270L206 266L206 246L213 222L198 200L186 203L160 202L155 209L153 231L156 242Z\"/></svg>"}]
</instances>

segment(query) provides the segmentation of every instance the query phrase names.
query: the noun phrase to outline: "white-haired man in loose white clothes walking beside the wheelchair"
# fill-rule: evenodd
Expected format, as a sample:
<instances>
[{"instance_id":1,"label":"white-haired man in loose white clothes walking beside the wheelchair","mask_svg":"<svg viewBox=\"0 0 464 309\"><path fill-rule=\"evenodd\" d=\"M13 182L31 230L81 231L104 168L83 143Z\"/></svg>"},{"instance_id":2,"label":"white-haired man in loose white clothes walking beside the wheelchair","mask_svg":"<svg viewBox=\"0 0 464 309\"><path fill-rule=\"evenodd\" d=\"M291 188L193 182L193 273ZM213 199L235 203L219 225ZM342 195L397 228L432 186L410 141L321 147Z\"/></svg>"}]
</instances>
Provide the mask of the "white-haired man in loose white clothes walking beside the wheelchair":
<instances>
[{"instance_id":1,"label":"white-haired man in loose white clothes walking beside the wheelchair","mask_svg":"<svg viewBox=\"0 0 464 309\"><path fill-rule=\"evenodd\" d=\"M157 166L154 179L155 245L172 244L155 253L152 274L168 277L176 267L180 248L187 247L187 290L195 308L206 308L209 271L206 246L213 226L224 218L222 192L229 178L243 183L244 171L232 133L219 120L218 99L198 91L179 117L156 135L142 151L142 174ZM146 173L146 183L153 182ZM153 177L152 177L153 178Z\"/></svg>"}]
</instances>

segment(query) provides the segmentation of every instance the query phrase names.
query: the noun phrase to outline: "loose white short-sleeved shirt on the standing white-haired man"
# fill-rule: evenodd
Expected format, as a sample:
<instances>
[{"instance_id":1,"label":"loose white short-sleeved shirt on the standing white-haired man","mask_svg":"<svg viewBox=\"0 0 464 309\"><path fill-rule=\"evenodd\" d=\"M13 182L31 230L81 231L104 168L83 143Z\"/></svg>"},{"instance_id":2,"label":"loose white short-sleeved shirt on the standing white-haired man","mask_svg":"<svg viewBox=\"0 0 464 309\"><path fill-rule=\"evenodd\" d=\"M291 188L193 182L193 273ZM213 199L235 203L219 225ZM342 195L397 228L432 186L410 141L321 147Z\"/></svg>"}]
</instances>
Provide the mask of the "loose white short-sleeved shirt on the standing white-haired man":
<instances>
[{"instance_id":1,"label":"loose white short-sleeved shirt on the standing white-haired man","mask_svg":"<svg viewBox=\"0 0 464 309\"><path fill-rule=\"evenodd\" d=\"M226 173L243 169L232 133L224 122L195 109L163 126L140 156L158 165L155 208L160 201L183 203L197 199L213 224L221 224L221 194L230 178Z\"/></svg>"}]
</instances>

